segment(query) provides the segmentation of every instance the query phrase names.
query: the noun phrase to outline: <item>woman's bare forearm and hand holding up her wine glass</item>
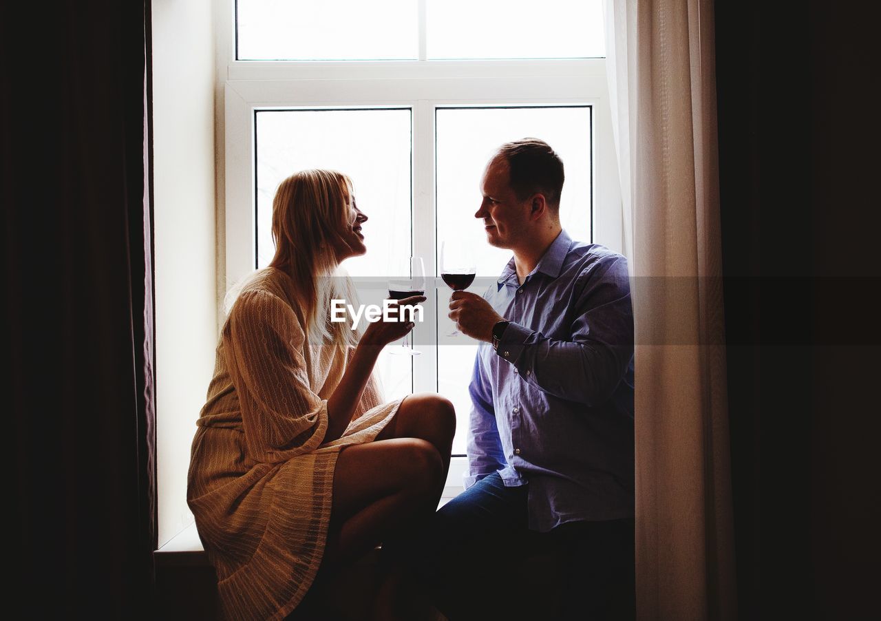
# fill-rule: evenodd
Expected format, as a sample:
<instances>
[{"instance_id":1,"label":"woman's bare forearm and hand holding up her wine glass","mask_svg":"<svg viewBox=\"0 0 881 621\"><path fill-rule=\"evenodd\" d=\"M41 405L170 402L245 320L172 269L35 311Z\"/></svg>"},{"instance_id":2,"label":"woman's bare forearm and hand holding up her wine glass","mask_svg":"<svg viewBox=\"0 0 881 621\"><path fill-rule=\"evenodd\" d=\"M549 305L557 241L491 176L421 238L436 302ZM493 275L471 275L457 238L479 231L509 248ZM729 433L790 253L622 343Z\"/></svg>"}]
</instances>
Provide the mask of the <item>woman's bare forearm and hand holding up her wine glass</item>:
<instances>
[{"instance_id":1,"label":"woman's bare forearm and hand holding up her wine glass","mask_svg":"<svg viewBox=\"0 0 881 621\"><path fill-rule=\"evenodd\" d=\"M414 305L424 301L424 296L413 296L402 299L400 304ZM367 325L352 360L346 366L343 379L328 399L328 427L324 433L324 442L337 440L352 422L352 415L361 401L367 380L370 379L370 373L373 373L382 348L403 337L412 328L412 322L384 322L381 319Z\"/></svg>"}]
</instances>

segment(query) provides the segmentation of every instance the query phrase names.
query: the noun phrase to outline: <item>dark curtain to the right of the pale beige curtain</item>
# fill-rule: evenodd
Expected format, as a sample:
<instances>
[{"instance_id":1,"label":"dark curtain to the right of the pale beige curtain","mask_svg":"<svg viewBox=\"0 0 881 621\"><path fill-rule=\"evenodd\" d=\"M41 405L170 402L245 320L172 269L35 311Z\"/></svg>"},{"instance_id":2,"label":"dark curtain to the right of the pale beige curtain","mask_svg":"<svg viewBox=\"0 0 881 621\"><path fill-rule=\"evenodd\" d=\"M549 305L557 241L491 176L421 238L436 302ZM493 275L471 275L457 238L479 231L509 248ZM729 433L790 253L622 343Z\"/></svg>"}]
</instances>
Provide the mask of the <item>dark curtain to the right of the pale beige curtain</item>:
<instances>
[{"instance_id":1,"label":"dark curtain to the right of the pale beige curtain","mask_svg":"<svg viewBox=\"0 0 881 621\"><path fill-rule=\"evenodd\" d=\"M739 614L877 614L873 4L716 2Z\"/></svg>"}]
</instances>

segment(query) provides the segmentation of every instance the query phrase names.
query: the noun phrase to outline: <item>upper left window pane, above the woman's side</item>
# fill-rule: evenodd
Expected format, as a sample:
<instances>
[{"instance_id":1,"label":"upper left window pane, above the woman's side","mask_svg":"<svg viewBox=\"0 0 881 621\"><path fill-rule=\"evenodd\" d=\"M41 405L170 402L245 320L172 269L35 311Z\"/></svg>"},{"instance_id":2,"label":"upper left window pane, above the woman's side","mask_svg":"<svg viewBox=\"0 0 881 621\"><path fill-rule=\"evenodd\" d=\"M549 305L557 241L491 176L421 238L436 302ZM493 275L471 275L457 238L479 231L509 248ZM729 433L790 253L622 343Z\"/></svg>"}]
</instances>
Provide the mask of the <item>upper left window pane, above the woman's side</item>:
<instances>
[{"instance_id":1,"label":"upper left window pane, above the woman's side","mask_svg":"<svg viewBox=\"0 0 881 621\"><path fill-rule=\"evenodd\" d=\"M418 56L413 0L239 0L240 60L370 60Z\"/></svg>"}]
</instances>

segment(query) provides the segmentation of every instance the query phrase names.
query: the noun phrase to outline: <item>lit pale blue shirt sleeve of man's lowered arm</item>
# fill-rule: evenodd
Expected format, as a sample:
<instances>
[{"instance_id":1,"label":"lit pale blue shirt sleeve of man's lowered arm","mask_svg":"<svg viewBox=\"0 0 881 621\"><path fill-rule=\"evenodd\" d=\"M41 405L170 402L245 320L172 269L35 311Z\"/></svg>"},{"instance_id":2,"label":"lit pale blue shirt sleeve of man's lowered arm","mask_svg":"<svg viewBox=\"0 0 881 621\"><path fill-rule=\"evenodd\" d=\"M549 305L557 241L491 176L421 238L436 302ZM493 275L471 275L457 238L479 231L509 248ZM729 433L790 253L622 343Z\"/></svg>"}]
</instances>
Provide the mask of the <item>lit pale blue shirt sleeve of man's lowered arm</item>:
<instances>
[{"instance_id":1,"label":"lit pale blue shirt sleeve of man's lowered arm","mask_svg":"<svg viewBox=\"0 0 881 621\"><path fill-rule=\"evenodd\" d=\"M474 371L468 386L471 396L470 427L468 433L468 471L464 485L467 490L483 477L505 467L505 453L501 447L499 428L496 425L495 410L492 407L490 390L480 351L474 357Z\"/></svg>"}]
</instances>

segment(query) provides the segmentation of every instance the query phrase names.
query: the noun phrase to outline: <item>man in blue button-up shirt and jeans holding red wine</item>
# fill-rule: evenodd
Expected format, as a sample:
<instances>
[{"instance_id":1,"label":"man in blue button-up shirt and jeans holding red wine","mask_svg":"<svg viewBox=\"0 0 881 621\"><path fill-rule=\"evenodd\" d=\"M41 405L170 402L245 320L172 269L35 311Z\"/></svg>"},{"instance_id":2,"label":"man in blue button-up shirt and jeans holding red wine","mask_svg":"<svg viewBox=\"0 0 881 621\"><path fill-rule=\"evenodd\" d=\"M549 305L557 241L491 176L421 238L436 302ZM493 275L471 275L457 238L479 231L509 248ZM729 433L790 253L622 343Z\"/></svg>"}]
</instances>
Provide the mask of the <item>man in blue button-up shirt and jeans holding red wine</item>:
<instances>
[{"instance_id":1,"label":"man in blue button-up shirt and jeans holding red wine","mask_svg":"<svg viewBox=\"0 0 881 621\"><path fill-rule=\"evenodd\" d=\"M544 141L500 147L474 215L514 256L484 297L450 301L458 329L481 341L466 489L420 536L432 564L421 573L451 619L633 615L627 265L562 230L563 181ZM544 568L530 565L547 555ZM458 595L469 589L477 600Z\"/></svg>"}]
</instances>

